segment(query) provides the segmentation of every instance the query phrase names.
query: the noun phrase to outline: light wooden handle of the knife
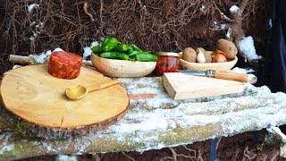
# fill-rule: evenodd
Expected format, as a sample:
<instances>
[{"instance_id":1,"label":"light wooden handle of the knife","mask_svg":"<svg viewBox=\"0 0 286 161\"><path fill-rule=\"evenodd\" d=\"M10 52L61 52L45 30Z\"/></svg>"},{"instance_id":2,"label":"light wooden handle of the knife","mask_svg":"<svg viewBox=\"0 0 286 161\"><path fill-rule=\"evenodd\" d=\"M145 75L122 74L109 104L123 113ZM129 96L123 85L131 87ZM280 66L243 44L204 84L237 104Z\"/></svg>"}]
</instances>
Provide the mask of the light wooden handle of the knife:
<instances>
[{"instance_id":1,"label":"light wooden handle of the knife","mask_svg":"<svg viewBox=\"0 0 286 161\"><path fill-rule=\"evenodd\" d=\"M248 74L226 71L215 71L214 78L223 80L238 80L242 82L248 82Z\"/></svg>"}]
</instances>

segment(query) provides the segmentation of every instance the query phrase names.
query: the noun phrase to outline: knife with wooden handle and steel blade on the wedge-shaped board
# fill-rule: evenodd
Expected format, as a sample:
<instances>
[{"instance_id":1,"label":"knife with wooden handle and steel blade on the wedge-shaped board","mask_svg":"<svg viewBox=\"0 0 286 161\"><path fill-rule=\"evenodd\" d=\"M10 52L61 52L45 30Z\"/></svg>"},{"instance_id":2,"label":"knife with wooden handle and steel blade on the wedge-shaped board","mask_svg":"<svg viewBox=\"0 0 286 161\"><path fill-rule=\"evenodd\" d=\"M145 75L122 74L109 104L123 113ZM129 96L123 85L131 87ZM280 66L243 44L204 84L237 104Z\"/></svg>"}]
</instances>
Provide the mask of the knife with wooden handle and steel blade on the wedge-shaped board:
<instances>
[{"instance_id":1,"label":"knife with wooden handle and steel blade on the wedge-shaped board","mask_svg":"<svg viewBox=\"0 0 286 161\"><path fill-rule=\"evenodd\" d=\"M238 73L238 72L226 72L226 71L217 71L217 70L178 70L178 72L188 74L188 75L198 75L198 76L207 76L223 80L238 80L242 82L248 82L248 74Z\"/></svg>"}]
</instances>

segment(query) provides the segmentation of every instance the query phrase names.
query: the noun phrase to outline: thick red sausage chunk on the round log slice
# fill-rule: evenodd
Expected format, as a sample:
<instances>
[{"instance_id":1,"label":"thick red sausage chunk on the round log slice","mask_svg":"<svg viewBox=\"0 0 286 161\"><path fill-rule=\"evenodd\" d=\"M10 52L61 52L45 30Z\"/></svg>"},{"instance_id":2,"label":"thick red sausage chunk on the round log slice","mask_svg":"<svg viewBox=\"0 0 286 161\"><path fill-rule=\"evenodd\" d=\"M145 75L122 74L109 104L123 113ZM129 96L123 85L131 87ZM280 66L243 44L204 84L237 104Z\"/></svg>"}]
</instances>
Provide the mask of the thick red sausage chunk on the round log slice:
<instances>
[{"instance_id":1,"label":"thick red sausage chunk on the round log slice","mask_svg":"<svg viewBox=\"0 0 286 161\"><path fill-rule=\"evenodd\" d=\"M47 72L55 78L72 80L80 74L82 57L74 53L53 52L50 56Z\"/></svg>"}]
</instances>

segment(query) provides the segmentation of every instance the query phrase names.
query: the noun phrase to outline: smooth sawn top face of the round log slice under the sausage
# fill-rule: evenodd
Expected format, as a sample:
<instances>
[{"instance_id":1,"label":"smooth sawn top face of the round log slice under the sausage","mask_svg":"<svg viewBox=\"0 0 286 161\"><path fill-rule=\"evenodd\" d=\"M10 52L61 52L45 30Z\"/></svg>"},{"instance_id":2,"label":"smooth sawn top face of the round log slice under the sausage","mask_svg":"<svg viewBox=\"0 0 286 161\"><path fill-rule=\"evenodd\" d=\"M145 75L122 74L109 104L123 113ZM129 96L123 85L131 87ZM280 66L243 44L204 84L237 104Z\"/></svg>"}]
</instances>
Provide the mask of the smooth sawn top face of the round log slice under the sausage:
<instances>
[{"instance_id":1,"label":"smooth sawn top face of the round log slice under the sausage","mask_svg":"<svg viewBox=\"0 0 286 161\"><path fill-rule=\"evenodd\" d=\"M90 88L110 80L86 67L81 67L77 79L57 79L47 72L46 64L29 65L4 73L1 96L4 106L24 120L72 129L117 120L128 109L129 97L120 85L88 93L80 100L64 95L65 89L78 84Z\"/></svg>"}]
</instances>

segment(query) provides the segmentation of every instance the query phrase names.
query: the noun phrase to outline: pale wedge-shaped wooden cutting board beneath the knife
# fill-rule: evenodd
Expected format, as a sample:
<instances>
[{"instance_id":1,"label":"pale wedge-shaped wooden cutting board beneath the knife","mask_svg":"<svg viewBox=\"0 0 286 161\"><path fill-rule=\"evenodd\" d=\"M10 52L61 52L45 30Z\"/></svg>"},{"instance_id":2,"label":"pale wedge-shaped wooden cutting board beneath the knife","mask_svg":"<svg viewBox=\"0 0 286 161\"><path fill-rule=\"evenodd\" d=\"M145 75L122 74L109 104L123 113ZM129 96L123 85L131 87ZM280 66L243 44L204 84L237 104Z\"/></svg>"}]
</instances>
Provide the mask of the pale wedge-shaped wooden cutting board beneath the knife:
<instances>
[{"instance_id":1,"label":"pale wedge-shaped wooden cutting board beneath the knife","mask_svg":"<svg viewBox=\"0 0 286 161\"><path fill-rule=\"evenodd\" d=\"M221 80L180 72L165 72L163 84L164 89L176 100L240 93L245 87L243 82L236 80Z\"/></svg>"}]
</instances>

